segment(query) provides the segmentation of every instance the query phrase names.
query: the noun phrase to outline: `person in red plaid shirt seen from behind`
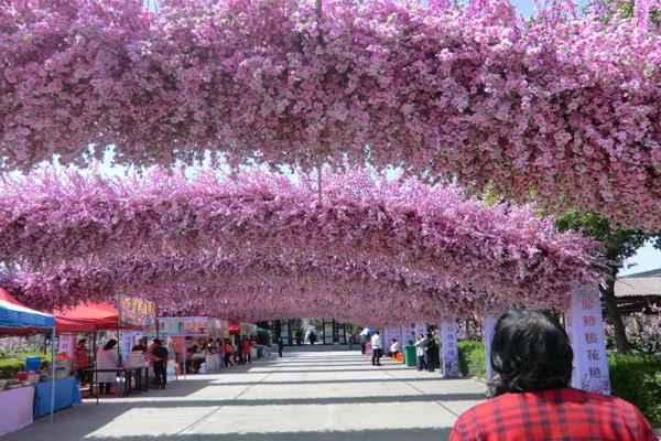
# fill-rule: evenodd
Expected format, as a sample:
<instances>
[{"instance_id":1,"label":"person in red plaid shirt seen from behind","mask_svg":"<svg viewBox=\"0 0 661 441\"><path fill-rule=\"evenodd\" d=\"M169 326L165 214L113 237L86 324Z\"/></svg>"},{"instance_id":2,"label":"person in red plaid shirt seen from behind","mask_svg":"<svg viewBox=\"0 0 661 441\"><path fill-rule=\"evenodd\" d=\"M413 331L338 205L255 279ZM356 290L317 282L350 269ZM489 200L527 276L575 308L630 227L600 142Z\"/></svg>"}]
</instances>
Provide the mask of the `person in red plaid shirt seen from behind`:
<instances>
[{"instance_id":1,"label":"person in red plaid shirt seen from behind","mask_svg":"<svg viewBox=\"0 0 661 441\"><path fill-rule=\"evenodd\" d=\"M449 441L657 441L642 413L620 398L568 387L565 330L540 311L506 312L496 324L496 397L459 417Z\"/></svg>"}]
</instances>

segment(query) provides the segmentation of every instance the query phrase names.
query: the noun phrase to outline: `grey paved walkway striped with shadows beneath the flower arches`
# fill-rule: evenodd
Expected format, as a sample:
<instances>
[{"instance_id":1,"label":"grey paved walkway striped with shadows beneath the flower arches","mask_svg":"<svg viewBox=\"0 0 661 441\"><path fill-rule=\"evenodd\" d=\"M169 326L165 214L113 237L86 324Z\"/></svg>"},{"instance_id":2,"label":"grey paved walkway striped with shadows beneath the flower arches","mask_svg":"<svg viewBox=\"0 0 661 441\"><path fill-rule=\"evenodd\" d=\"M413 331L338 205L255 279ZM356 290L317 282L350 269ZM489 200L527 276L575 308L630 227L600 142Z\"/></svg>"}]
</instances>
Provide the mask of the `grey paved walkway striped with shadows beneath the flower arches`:
<instances>
[{"instance_id":1,"label":"grey paved walkway striped with shadows beneath the flower arches","mask_svg":"<svg viewBox=\"0 0 661 441\"><path fill-rule=\"evenodd\" d=\"M485 396L359 352L290 353L219 375L188 377L129 398L94 400L2 438L17 441L445 440Z\"/></svg>"}]
</instances>

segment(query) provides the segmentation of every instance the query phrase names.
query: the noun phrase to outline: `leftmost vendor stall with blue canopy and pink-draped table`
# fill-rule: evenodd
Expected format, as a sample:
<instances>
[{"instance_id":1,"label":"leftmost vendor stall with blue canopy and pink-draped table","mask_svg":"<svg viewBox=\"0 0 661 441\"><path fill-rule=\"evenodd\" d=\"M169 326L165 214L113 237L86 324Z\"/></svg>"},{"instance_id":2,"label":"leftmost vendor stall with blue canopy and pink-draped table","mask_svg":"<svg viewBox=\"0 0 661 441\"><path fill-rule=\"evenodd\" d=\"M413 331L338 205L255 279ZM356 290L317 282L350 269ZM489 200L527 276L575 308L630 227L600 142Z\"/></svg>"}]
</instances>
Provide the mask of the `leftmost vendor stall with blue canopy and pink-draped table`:
<instances>
[{"instance_id":1,"label":"leftmost vendor stall with blue canopy and pink-draped table","mask_svg":"<svg viewBox=\"0 0 661 441\"><path fill-rule=\"evenodd\" d=\"M0 383L0 435L17 431L30 423L33 418L33 406L35 397L35 384L40 380L47 380L45 388L51 390L50 406L46 406L45 413L51 415L55 410L55 363L53 346L55 336L55 318L51 314L34 311L14 299L9 292L0 289L0 334L28 334L28 333L50 333L51 334L51 373L20 373L17 378L2 379ZM37 366L39 367L39 366ZM45 373L44 373L45 374ZM69 404L69 406L73 401ZM43 413L43 415L45 415Z\"/></svg>"}]
</instances>

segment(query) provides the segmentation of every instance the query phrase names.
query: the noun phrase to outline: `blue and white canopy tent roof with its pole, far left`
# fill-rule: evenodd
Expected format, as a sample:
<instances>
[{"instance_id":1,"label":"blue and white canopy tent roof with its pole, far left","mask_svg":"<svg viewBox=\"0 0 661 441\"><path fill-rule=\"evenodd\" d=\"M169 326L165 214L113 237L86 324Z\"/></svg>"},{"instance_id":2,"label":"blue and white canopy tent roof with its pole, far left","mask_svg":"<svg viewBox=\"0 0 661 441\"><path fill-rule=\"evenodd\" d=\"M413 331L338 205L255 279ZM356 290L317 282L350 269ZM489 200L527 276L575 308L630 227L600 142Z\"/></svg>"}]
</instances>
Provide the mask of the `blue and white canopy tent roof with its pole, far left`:
<instances>
[{"instance_id":1,"label":"blue and white canopy tent roof with its pole, far left","mask_svg":"<svg viewBox=\"0 0 661 441\"><path fill-rule=\"evenodd\" d=\"M0 288L0 335L51 333L51 422L55 409L55 316L31 310Z\"/></svg>"}]
</instances>

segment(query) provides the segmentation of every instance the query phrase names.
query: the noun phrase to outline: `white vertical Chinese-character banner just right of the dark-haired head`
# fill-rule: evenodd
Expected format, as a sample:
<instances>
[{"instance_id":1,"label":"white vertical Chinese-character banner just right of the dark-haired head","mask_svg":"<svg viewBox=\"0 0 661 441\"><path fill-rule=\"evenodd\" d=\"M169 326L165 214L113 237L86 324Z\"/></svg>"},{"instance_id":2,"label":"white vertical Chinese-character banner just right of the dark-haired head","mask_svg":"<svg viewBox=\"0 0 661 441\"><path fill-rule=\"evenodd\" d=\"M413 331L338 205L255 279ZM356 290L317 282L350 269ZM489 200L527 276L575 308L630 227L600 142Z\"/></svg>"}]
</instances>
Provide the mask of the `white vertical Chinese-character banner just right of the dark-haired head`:
<instances>
[{"instance_id":1,"label":"white vertical Chinese-character banner just right of the dark-haired head","mask_svg":"<svg viewBox=\"0 0 661 441\"><path fill-rule=\"evenodd\" d=\"M572 387L609 395L604 319L599 288L596 284L582 284L572 290L565 329L574 349Z\"/></svg>"}]
</instances>

